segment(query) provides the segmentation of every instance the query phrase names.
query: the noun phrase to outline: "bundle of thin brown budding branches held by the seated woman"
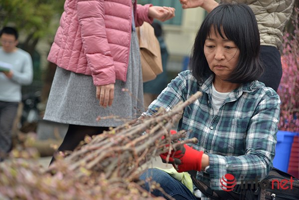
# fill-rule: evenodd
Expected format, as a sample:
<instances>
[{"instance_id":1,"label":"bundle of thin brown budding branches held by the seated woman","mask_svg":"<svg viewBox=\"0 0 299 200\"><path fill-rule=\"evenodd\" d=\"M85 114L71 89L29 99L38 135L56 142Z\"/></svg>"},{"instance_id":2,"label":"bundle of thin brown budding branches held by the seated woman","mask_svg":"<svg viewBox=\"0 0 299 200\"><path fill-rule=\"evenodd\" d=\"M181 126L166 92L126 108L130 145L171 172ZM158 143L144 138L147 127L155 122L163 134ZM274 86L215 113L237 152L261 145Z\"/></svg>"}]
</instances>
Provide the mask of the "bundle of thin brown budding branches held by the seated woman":
<instances>
[{"instance_id":1,"label":"bundle of thin brown budding branches held by the seated woman","mask_svg":"<svg viewBox=\"0 0 299 200\"><path fill-rule=\"evenodd\" d=\"M32 181L30 184L19 183L19 180L26 178L26 173L22 175L16 173L17 175L14 177L1 177L0 193L9 199L19 197L14 196L16 193L5 191L7 180L13 179L14 184L10 185L11 187L26 186L29 187L26 188L26 191L29 191L27 193L39 194L41 190L34 187L40 186L37 180L45 179L51 184L42 189L44 195L42 199L61 199L58 198L60 192L62 196L65 193L72 194L73 198L71 199L154 199L141 187L142 183L138 180L142 173L140 167L161 153L170 152L186 143L197 142L195 138L179 142L186 131L172 135L170 129L181 118L184 108L200 95L201 93L197 92L185 102L177 104L169 112L159 110L150 117L143 116L93 138L86 137L74 152L60 154L61 159L57 158L57 161L47 170L29 173L31 178L38 176L35 177L34 184ZM14 165L17 165L14 166L15 169L22 167L21 164ZM30 169L31 167L27 165L23 171ZM7 166L5 169L0 166L0 173L2 174L4 171L7 172ZM18 176L23 177L18 179ZM43 182L43 184L45 183ZM56 192L49 191L53 187ZM153 187L158 188L158 186ZM29 198L23 199L29 200Z\"/></svg>"}]
</instances>

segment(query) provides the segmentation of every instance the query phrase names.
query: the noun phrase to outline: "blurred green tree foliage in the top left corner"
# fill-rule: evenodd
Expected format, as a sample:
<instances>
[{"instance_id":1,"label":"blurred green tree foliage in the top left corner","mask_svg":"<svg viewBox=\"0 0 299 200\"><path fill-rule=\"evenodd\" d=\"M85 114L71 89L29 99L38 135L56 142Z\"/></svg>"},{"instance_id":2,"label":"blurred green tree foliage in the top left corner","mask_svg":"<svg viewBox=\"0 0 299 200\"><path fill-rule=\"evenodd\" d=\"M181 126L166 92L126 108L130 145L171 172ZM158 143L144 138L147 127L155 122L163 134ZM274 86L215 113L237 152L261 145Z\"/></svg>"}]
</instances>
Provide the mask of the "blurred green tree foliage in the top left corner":
<instances>
[{"instance_id":1,"label":"blurred green tree foliage in the top left corner","mask_svg":"<svg viewBox=\"0 0 299 200\"><path fill-rule=\"evenodd\" d=\"M1 0L0 27L15 26L25 35L23 49L31 55L41 38L52 39L52 19L63 11L63 0Z\"/></svg>"}]
</instances>

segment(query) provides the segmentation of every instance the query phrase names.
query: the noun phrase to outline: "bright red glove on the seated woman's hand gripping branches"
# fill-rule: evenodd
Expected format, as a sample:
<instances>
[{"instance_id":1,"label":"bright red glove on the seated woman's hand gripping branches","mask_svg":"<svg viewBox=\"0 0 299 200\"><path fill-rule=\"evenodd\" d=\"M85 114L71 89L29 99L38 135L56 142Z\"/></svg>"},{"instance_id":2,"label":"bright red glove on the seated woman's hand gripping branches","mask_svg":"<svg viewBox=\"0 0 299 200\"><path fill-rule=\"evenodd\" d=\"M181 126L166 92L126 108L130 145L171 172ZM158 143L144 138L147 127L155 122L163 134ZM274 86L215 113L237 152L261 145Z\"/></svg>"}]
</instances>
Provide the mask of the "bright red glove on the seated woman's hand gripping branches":
<instances>
[{"instance_id":1,"label":"bright red glove on the seated woman's hand gripping branches","mask_svg":"<svg viewBox=\"0 0 299 200\"><path fill-rule=\"evenodd\" d=\"M197 151L184 144L178 150L172 150L169 156L169 162L174 168L177 165L177 172L187 172L191 170L201 171L201 159L203 151ZM168 152L160 154L163 163L166 163Z\"/></svg>"}]
</instances>

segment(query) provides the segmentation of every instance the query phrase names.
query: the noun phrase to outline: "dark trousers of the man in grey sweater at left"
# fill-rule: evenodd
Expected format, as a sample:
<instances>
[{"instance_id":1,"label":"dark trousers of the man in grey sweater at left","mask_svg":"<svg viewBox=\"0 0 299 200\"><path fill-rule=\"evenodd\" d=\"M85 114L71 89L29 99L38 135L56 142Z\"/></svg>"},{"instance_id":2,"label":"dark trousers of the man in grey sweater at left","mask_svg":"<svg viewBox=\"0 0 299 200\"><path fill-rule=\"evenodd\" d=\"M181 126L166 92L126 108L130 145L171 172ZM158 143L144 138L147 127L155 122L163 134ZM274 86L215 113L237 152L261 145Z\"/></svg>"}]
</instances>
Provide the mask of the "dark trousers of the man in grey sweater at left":
<instances>
[{"instance_id":1,"label":"dark trousers of the man in grey sweater at left","mask_svg":"<svg viewBox=\"0 0 299 200\"><path fill-rule=\"evenodd\" d=\"M17 107L17 102L0 101L0 153L2 154L11 150L11 131Z\"/></svg>"}]
</instances>

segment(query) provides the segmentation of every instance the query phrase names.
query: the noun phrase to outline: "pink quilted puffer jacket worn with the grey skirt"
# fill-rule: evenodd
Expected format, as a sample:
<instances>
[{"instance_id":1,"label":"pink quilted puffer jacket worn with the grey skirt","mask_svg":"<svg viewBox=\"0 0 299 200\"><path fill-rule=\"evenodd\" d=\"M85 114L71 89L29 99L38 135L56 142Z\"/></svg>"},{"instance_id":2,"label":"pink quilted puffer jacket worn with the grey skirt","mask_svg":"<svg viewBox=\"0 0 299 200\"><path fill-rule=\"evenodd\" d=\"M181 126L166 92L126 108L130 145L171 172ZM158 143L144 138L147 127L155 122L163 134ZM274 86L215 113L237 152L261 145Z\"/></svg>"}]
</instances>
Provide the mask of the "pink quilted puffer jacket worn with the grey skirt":
<instances>
[{"instance_id":1,"label":"pink quilted puffer jacket worn with the grey skirt","mask_svg":"<svg viewBox=\"0 0 299 200\"><path fill-rule=\"evenodd\" d=\"M136 26L152 22L149 6L134 3ZM126 81L131 30L132 0L66 0L48 60L94 85Z\"/></svg>"}]
</instances>

